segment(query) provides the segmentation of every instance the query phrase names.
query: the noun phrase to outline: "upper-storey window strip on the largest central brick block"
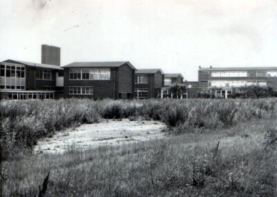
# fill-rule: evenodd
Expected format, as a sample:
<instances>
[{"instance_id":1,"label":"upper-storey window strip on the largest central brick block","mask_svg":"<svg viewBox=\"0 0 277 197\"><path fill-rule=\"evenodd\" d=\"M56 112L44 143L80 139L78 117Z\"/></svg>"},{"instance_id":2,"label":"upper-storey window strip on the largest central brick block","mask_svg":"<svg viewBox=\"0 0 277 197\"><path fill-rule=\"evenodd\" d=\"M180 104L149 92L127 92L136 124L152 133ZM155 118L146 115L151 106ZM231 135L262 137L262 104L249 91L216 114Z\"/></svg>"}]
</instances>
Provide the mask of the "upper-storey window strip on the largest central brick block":
<instances>
[{"instance_id":1,"label":"upper-storey window strip on the largest central brick block","mask_svg":"<svg viewBox=\"0 0 277 197\"><path fill-rule=\"evenodd\" d=\"M110 80L109 68L69 69L70 80Z\"/></svg>"}]
</instances>

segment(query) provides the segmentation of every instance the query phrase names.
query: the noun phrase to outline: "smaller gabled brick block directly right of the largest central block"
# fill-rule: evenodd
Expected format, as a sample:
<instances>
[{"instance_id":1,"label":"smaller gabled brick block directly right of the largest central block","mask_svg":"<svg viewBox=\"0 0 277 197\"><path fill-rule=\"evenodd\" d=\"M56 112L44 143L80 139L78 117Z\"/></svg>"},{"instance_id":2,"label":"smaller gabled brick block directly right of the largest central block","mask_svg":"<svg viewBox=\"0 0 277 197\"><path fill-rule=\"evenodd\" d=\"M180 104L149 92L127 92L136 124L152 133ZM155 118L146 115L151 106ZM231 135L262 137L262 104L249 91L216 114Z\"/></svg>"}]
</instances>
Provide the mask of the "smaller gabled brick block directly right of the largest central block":
<instances>
[{"instance_id":1,"label":"smaller gabled brick block directly right of the largest central block","mask_svg":"<svg viewBox=\"0 0 277 197\"><path fill-rule=\"evenodd\" d=\"M161 69L137 69L134 76L135 99L150 99L161 96L164 74Z\"/></svg>"}]
</instances>

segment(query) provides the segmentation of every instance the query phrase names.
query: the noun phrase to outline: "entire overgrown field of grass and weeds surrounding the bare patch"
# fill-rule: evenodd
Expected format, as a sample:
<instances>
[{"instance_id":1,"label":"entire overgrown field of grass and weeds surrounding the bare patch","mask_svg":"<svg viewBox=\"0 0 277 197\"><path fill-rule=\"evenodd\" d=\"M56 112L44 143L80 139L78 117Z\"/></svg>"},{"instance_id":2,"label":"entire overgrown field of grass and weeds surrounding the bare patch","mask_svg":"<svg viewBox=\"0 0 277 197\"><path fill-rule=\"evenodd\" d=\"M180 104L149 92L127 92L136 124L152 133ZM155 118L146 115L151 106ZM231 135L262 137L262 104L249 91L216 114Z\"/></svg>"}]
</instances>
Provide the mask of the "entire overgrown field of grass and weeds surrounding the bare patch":
<instances>
[{"instance_id":1,"label":"entire overgrown field of grass and weeds surrounding the bare patch","mask_svg":"<svg viewBox=\"0 0 277 197\"><path fill-rule=\"evenodd\" d=\"M5 102L1 103L2 135L15 132L12 126L3 130L7 119L43 117L48 110L53 114L53 128L55 121L61 119L64 122L60 127L66 128L102 118L144 117L165 122L172 135L167 139L87 151L71 147L60 155L7 157L3 162L3 196L38 194L48 171L46 196L276 195L276 99L127 102L71 99L47 101L44 105L26 101L21 103L24 108L17 111L15 106L19 103ZM5 106L9 109L5 110ZM60 116L54 112L58 107L65 108L64 113L59 111ZM42 115L45 109L46 115ZM67 124L66 112L72 112L67 114L71 119ZM42 123L45 122L37 123L37 128L44 127ZM44 132L35 137L44 137ZM10 143L7 147L16 146L8 140L6 143Z\"/></svg>"}]
</instances>

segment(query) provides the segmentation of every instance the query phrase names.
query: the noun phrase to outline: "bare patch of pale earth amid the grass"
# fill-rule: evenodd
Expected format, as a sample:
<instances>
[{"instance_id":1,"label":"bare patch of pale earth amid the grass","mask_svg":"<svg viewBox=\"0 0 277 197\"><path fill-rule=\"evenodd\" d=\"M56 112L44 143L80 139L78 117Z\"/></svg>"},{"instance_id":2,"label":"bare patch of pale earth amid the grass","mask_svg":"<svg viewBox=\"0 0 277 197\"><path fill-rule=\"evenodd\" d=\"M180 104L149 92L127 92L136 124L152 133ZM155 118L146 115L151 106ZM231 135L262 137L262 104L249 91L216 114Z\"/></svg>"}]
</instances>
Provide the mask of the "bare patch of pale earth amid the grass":
<instances>
[{"instance_id":1,"label":"bare patch of pale earth amid the grass","mask_svg":"<svg viewBox=\"0 0 277 197\"><path fill-rule=\"evenodd\" d=\"M104 120L100 123L83 124L57 132L53 137L40 140L34 148L35 153L61 153L67 148L91 148L101 145L118 145L143 142L166 137L161 132L166 128L160 121L122 121Z\"/></svg>"}]
</instances>

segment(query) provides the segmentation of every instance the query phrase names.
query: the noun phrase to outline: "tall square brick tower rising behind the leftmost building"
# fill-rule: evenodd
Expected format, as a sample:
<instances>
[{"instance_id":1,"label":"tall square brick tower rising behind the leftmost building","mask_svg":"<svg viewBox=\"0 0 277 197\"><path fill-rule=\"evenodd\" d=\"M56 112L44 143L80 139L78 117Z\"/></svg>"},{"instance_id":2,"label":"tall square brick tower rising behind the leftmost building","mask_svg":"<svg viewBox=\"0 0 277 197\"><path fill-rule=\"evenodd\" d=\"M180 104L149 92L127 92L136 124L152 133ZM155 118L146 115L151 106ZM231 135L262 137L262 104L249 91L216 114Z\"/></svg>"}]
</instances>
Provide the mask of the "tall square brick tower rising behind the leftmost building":
<instances>
[{"instance_id":1,"label":"tall square brick tower rising behind the leftmost building","mask_svg":"<svg viewBox=\"0 0 277 197\"><path fill-rule=\"evenodd\" d=\"M60 47L42 44L42 64L60 66Z\"/></svg>"}]
</instances>

